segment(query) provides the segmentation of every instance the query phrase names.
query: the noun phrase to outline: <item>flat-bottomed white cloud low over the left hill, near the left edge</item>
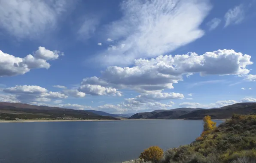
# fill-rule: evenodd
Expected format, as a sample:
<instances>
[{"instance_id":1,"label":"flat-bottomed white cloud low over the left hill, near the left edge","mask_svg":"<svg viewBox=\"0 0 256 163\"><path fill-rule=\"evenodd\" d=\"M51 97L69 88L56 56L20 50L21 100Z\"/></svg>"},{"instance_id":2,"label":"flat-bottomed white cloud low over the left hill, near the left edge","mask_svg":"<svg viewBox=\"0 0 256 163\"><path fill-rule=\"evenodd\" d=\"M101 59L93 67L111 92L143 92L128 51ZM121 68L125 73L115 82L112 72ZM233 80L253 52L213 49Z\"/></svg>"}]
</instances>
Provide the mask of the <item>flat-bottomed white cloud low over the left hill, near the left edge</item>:
<instances>
[{"instance_id":1,"label":"flat-bottomed white cloud low over the left hill, near the left edge","mask_svg":"<svg viewBox=\"0 0 256 163\"><path fill-rule=\"evenodd\" d=\"M48 91L46 88L42 88L37 85L16 85L15 87L5 88L3 92L13 94L18 101L29 102L50 102L52 99L67 98L67 96L61 92Z\"/></svg>"}]
</instances>

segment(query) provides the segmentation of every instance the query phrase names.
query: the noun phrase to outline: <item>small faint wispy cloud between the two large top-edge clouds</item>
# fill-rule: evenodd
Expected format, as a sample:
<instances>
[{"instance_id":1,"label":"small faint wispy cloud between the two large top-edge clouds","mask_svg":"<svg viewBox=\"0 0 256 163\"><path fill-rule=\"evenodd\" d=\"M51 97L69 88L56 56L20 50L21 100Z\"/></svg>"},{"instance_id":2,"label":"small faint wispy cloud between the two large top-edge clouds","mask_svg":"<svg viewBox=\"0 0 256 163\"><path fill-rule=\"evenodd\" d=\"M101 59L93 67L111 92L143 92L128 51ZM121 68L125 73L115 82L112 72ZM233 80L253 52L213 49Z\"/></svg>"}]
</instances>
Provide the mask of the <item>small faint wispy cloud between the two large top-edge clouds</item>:
<instances>
[{"instance_id":1,"label":"small faint wispy cloud between the two large top-edge clouds","mask_svg":"<svg viewBox=\"0 0 256 163\"><path fill-rule=\"evenodd\" d=\"M98 17L86 15L85 21L83 22L80 29L78 30L79 38L90 39L91 36L94 34L99 23L100 23L100 19Z\"/></svg>"}]
</instances>

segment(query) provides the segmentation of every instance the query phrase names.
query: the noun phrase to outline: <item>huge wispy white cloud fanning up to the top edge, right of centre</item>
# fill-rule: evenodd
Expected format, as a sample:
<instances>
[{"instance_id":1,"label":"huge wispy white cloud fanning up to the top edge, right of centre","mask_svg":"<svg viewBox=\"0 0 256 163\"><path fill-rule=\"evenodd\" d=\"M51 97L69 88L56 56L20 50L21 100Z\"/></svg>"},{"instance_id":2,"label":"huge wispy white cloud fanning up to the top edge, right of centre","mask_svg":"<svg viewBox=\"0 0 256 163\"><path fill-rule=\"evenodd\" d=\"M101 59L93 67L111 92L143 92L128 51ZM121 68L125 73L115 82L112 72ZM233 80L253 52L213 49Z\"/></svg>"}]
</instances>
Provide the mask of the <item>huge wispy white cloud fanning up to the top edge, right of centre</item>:
<instances>
[{"instance_id":1,"label":"huge wispy white cloud fanning up to the top edge, right of centre","mask_svg":"<svg viewBox=\"0 0 256 163\"><path fill-rule=\"evenodd\" d=\"M136 58L166 54L193 42L204 35L200 25L211 9L208 2L124 1L123 17L109 24L105 32L109 38L117 40L114 45L117 48L106 49L96 57L97 62L101 61L107 65L129 65Z\"/></svg>"}]
</instances>

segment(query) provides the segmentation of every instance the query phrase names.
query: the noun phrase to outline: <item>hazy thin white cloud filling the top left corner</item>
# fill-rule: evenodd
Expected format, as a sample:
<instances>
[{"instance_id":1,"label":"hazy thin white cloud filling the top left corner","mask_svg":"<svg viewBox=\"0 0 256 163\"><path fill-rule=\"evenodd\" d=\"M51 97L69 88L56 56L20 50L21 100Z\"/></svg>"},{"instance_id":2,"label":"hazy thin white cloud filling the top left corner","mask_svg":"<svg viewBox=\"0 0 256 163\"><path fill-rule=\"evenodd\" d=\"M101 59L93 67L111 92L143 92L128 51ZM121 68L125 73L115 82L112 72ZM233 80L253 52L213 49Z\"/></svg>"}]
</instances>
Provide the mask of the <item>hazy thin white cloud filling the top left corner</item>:
<instances>
[{"instance_id":1,"label":"hazy thin white cloud filling the top left corner","mask_svg":"<svg viewBox=\"0 0 256 163\"><path fill-rule=\"evenodd\" d=\"M37 37L54 29L71 5L66 0L1 0L0 28L18 38Z\"/></svg>"}]
</instances>

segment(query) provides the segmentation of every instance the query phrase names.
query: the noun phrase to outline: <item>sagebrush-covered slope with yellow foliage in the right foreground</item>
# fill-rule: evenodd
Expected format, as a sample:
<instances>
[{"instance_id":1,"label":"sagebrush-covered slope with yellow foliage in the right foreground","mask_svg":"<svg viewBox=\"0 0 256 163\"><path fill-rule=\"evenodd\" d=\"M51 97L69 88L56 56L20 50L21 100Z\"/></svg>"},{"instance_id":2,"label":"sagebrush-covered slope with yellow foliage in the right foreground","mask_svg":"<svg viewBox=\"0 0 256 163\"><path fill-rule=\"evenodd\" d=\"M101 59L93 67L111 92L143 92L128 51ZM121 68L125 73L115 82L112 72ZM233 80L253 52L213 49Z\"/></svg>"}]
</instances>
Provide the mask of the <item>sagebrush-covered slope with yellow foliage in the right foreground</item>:
<instances>
[{"instance_id":1,"label":"sagebrush-covered slope with yellow foliage in the right foreground","mask_svg":"<svg viewBox=\"0 0 256 163\"><path fill-rule=\"evenodd\" d=\"M219 127L215 125L204 118L199 138L168 149L161 160L143 157L125 163L256 163L256 115L233 115Z\"/></svg>"}]
</instances>

